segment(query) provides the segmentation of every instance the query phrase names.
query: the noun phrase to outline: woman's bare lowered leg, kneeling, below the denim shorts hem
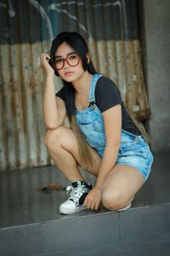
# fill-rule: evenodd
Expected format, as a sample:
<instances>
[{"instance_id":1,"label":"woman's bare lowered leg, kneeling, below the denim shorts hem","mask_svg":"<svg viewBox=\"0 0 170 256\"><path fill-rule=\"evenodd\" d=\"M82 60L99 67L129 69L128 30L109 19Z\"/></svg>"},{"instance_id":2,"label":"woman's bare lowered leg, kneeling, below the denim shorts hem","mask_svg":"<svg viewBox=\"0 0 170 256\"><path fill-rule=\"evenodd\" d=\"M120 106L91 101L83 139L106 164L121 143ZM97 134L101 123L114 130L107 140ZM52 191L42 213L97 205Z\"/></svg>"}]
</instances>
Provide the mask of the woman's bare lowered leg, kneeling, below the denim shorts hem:
<instances>
[{"instance_id":1,"label":"woman's bare lowered leg, kneeling, below the denim shorts hem","mask_svg":"<svg viewBox=\"0 0 170 256\"><path fill-rule=\"evenodd\" d=\"M101 189L104 207L111 211L127 207L143 184L144 177L136 168L116 165L108 173Z\"/></svg>"}]
</instances>

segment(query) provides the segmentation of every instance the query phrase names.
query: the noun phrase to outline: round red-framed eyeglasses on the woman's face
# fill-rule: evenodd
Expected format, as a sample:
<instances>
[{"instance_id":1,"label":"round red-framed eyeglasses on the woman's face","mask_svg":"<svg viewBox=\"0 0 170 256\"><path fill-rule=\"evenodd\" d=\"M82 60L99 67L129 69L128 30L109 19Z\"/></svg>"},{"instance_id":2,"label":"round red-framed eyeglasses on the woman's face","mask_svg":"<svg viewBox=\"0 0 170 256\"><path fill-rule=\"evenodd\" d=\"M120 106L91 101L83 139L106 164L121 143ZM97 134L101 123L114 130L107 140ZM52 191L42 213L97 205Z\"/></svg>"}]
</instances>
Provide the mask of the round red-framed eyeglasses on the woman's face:
<instances>
[{"instance_id":1,"label":"round red-framed eyeglasses on the woman's face","mask_svg":"<svg viewBox=\"0 0 170 256\"><path fill-rule=\"evenodd\" d=\"M80 62L80 56L77 53L69 54L65 59L60 56L54 56L54 66L57 70L62 69L66 63L71 67L76 67Z\"/></svg>"}]
</instances>

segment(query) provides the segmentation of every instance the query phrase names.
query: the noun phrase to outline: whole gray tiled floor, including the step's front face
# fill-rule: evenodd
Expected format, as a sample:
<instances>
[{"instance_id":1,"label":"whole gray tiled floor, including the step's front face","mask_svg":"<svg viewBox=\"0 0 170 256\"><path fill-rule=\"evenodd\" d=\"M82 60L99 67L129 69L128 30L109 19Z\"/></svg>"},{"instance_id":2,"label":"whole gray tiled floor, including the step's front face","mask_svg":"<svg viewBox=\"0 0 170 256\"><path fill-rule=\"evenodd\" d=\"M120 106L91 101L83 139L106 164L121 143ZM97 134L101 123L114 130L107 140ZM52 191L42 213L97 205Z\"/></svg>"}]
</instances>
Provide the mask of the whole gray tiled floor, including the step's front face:
<instances>
[{"instance_id":1,"label":"whole gray tiled floor, including the step's front face","mask_svg":"<svg viewBox=\"0 0 170 256\"><path fill-rule=\"evenodd\" d=\"M154 156L132 209L120 213L101 207L59 214L65 191L37 191L49 183L68 185L55 166L0 172L0 255L170 255L170 152Z\"/></svg>"}]
</instances>

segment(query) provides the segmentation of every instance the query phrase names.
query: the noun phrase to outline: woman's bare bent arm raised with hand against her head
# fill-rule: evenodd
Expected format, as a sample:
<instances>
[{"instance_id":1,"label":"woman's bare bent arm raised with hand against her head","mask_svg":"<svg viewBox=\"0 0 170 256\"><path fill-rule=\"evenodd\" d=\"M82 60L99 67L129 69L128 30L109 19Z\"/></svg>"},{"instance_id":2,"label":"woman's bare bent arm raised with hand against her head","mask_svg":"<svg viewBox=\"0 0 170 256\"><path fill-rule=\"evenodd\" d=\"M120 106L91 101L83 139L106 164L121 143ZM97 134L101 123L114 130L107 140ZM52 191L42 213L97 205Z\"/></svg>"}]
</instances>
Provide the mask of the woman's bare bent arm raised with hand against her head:
<instances>
[{"instance_id":1,"label":"woman's bare bent arm raised with hand against her head","mask_svg":"<svg viewBox=\"0 0 170 256\"><path fill-rule=\"evenodd\" d=\"M54 69L48 64L49 59L49 55L42 54L41 67L47 76L43 94L43 119L48 129L56 129L62 125L66 111L65 102L55 96Z\"/></svg>"}]
</instances>

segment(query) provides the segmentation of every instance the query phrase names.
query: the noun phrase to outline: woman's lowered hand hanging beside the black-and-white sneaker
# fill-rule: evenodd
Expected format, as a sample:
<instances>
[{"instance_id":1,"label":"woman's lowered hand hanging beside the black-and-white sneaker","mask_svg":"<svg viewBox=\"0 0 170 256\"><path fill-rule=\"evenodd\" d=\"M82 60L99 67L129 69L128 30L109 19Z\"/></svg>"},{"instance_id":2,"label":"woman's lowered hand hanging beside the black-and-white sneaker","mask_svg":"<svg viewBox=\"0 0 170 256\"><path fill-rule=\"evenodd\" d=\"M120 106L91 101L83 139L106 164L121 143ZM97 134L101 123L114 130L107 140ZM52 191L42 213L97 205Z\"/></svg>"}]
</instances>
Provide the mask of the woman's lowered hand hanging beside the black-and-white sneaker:
<instances>
[{"instance_id":1,"label":"woman's lowered hand hanging beside the black-and-white sneaker","mask_svg":"<svg viewBox=\"0 0 170 256\"><path fill-rule=\"evenodd\" d=\"M101 191L94 187L85 198L84 206L91 210L97 210L101 201Z\"/></svg>"}]
</instances>

